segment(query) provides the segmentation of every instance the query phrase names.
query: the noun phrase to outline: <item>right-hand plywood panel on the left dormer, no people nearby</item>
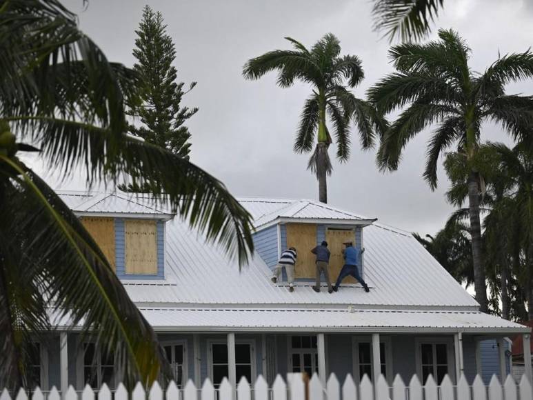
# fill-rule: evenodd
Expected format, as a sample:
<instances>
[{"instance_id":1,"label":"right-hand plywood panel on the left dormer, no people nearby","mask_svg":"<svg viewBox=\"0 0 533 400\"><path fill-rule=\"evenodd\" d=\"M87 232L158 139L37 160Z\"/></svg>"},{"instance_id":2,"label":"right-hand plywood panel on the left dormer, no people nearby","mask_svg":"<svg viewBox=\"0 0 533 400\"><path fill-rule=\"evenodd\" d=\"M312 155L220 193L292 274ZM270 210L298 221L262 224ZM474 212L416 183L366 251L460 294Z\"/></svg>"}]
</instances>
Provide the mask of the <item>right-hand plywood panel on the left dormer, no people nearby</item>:
<instances>
[{"instance_id":1,"label":"right-hand plywood panel on the left dormer, no people nearby","mask_svg":"<svg viewBox=\"0 0 533 400\"><path fill-rule=\"evenodd\" d=\"M126 274L157 274L156 221L127 219L124 239Z\"/></svg>"}]
</instances>

